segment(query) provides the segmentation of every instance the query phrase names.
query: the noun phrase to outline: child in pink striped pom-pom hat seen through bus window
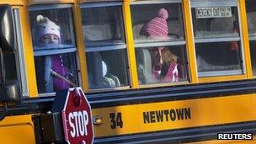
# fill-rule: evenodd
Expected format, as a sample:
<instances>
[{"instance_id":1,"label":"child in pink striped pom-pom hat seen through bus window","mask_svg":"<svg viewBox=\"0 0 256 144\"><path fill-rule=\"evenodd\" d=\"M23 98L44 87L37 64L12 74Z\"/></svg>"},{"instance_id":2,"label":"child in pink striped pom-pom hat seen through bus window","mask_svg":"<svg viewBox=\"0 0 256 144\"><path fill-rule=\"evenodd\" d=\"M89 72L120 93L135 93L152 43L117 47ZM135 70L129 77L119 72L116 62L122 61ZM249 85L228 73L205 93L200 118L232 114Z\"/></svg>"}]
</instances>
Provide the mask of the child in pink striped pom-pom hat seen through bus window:
<instances>
[{"instance_id":1,"label":"child in pink striped pom-pom hat seen through bus window","mask_svg":"<svg viewBox=\"0 0 256 144\"><path fill-rule=\"evenodd\" d=\"M168 11L161 8L157 17L144 24L140 34L154 40L168 40ZM178 82L177 56L168 48L157 47L150 51L152 56L152 77L160 82Z\"/></svg>"}]
</instances>

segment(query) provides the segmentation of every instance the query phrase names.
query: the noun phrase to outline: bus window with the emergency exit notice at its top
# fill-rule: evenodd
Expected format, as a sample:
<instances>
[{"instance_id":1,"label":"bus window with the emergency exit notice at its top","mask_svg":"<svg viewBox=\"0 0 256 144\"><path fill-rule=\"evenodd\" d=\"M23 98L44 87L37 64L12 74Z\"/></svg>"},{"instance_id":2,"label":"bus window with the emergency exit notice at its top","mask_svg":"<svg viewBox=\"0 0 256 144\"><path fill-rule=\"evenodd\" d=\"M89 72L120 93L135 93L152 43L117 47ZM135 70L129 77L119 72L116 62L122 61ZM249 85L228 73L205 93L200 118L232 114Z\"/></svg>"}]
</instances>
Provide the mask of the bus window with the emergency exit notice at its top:
<instances>
[{"instance_id":1,"label":"bus window with the emergency exit notice at its top","mask_svg":"<svg viewBox=\"0 0 256 144\"><path fill-rule=\"evenodd\" d=\"M199 77L243 74L237 0L191 5Z\"/></svg>"}]
</instances>

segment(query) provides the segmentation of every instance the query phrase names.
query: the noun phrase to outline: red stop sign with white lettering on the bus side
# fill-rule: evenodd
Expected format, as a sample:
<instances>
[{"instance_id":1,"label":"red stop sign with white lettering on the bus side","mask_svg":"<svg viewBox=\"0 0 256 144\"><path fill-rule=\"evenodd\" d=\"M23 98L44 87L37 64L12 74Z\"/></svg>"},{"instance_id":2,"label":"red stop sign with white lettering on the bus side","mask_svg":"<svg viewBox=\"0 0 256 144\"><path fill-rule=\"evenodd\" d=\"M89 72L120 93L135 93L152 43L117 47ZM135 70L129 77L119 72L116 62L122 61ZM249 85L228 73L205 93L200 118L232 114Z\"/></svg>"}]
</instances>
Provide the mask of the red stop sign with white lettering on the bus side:
<instances>
[{"instance_id":1,"label":"red stop sign with white lettering on the bus side","mask_svg":"<svg viewBox=\"0 0 256 144\"><path fill-rule=\"evenodd\" d=\"M65 140L71 144L93 143L93 122L91 106L82 88L69 88L62 122Z\"/></svg>"}]
</instances>

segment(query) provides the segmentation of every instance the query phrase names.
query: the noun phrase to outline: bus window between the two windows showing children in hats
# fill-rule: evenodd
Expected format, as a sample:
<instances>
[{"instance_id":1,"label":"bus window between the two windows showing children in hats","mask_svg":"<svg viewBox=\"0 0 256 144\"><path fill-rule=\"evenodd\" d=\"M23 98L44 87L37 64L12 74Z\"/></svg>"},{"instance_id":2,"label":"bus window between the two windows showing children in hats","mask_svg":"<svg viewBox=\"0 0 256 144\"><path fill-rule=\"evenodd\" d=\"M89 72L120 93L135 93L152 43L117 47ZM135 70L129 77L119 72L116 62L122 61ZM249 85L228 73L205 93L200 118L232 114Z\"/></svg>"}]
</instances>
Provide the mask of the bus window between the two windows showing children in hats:
<instances>
[{"instance_id":1,"label":"bus window between the two windows showing children in hats","mask_svg":"<svg viewBox=\"0 0 256 144\"><path fill-rule=\"evenodd\" d=\"M89 88L128 86L121 3L83 3L81 8Z\"/></svg>"}]
</instances>

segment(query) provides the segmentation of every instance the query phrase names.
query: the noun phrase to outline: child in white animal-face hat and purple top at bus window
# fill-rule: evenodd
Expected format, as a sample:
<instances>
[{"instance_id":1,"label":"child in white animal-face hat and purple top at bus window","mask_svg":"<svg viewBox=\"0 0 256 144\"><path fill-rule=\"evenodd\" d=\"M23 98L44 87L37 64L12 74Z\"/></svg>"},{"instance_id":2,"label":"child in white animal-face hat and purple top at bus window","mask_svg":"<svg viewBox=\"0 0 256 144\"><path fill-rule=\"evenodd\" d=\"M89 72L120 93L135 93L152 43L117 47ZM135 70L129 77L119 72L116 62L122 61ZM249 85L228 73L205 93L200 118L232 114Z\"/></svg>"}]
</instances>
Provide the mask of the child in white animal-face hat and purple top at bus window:
<instances>
[{"instance_id":1,"label":"child in white animal-face hat and purple top at bus window","mask_svg":"<svg viewBox=\"0 0 256 144\"><path fill-rule=\"evenodd\" d=\"M35 44L37 46L51 48L51 46L61 43L60 27L58 25L42 15L36 17L36 23ZM68 78L72 74L63 65L61 54L35 57L35 62L39 66L36 68L37 77L40 78L39 87L44 89L42 91L45 93L75 86Z\"/></svg>"}]
</instances>

